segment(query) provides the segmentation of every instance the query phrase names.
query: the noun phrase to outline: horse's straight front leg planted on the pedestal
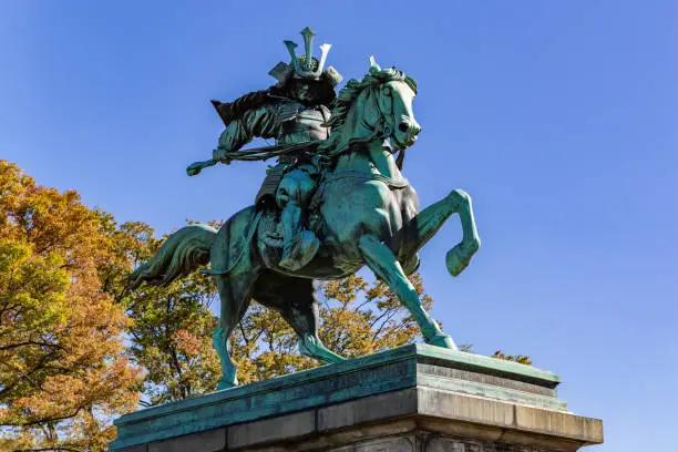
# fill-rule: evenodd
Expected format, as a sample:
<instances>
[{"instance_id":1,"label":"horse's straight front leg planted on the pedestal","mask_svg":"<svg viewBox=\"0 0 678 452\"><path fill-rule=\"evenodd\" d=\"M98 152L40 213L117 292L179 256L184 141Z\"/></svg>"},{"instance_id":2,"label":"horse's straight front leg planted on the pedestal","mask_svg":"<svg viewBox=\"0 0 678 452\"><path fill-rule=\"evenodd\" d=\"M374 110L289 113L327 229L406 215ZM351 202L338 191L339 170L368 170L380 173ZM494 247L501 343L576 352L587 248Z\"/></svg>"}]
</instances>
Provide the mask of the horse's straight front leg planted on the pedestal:
<instances>
[{"instance_id":1,"label":"horse's straight front leg planted on the pedestal","mask_svg":"<svg viewBox=\"0 0 678 452\"><path fill-rule=\"evenodd\" d=\"M438 322L424 310L417 290L405 276L400 263L391 249L377 236L366 235L359 242L364 263L372 271L393 290L400 301L408 308L424 340L439 347L456 349L452 338L441 331Z\"/></svg>"}]
</instances>

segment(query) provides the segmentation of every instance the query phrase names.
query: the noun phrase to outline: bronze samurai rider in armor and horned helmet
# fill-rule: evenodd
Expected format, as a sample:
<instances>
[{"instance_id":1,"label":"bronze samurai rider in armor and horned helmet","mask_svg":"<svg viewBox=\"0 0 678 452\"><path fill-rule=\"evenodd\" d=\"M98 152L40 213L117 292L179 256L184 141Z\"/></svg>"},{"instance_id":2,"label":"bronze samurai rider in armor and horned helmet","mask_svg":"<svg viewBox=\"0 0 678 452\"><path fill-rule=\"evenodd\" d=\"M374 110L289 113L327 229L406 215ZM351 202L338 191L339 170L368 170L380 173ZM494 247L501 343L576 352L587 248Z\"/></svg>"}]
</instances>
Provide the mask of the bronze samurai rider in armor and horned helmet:
<instances>
[{"instance_id":1,"label":"bronze samurai rider in armor and horned helmet","mask_svg":"<svg viewBox=\"0 0 678 452\"><path fill-rule=\"evenodd\" d=\"M329 137L330 130L325 125L330 120L328 105L342 78L332 66L325 68L331 45L320 45L318 60L312 56L315 33L307 27L301 35L306 54L297 55L297 44L285 41L291 62L280 62L269 72L277 79L276 85L232 103L212 101L226 124L214 150L214 161L228 163L228 154L254 137L275 138L276 146ZM289 270L306 266L320 245L318 237L305 228L306 209L319 171L308 152L281 155L277 165L268 170L255 199L260 209L281 209L284 246L279 265Z\"/></svg>"}]
</instances>

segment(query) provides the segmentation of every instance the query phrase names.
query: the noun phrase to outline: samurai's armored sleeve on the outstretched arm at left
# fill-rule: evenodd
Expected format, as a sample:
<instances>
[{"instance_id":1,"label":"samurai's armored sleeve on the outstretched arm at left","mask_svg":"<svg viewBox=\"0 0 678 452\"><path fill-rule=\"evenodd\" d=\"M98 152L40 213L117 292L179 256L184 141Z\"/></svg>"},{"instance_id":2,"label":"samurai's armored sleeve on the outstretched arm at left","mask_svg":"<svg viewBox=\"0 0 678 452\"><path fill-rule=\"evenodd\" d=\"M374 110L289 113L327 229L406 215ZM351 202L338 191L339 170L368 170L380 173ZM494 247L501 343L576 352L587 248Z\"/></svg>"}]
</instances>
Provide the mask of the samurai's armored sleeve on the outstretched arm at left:
<instances>
[{"instance_id":1,"label":"samurai's armored sleeve on the outstretched arm at left","mask_svg":"<svg viewBox=\"0 0 678 452\"><path fill-rule=\"evenodd\" d=\"M245 112L233 121L219 136L219 147L229 152L237 151L255 136L271 138L276 136L277 121L274 105L264 105Z\"/></svg>"}]
</instances>

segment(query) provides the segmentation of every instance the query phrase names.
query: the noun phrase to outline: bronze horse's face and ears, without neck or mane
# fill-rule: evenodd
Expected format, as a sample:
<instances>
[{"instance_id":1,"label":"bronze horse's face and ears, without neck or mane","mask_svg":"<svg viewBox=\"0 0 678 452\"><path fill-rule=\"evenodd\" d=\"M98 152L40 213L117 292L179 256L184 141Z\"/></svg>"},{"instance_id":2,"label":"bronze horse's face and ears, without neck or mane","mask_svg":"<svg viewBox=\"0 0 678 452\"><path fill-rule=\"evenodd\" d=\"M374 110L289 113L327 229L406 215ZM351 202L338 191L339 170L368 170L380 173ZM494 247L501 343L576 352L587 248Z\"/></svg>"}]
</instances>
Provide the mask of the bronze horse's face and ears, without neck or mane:
<instances>
[{"instance_id":1,"label":"bronze horse's face and ears, without neck or mane","mask_svg":"<svg viewBox=\"0 0 678 452\"><path fill-rule=\"evenodd\" d=\"M366 92L373 95L373 103L367 103L366 122L373 127L381 127L384 137L398 148L411 146L421 126L414 119L412 102L417 95L417 82L397 69L382 70L373 58L370 58L370 72L378 83ZM372 122L374 121L374 122Z\"/></svg>"}]
</instances>

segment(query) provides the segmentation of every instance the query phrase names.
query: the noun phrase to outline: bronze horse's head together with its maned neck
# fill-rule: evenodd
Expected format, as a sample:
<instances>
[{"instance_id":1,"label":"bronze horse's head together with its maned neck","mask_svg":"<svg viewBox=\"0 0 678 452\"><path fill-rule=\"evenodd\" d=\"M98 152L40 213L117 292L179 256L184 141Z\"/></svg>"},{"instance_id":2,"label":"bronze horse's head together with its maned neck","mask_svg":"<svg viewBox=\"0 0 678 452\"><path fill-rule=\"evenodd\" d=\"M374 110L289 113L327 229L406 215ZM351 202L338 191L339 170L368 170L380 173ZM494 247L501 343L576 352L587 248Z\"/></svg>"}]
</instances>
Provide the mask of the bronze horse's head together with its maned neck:
<instances>
[{"instance_id":1,"label":"bronze horse's head together with its maned neck","mask_svg":"<svg viewBox=\"0 0 678 452\"><path fill-rule=\"evenodd\" d=\"M332 109L330 140L321 148L339 154L356 141L389 138L397 148L411 146L421 131L412 102L417 82L396 68L381 69L370 58L362 80L349 80Z\"/></svg>"}]
</instances>

